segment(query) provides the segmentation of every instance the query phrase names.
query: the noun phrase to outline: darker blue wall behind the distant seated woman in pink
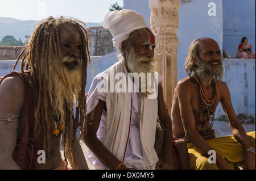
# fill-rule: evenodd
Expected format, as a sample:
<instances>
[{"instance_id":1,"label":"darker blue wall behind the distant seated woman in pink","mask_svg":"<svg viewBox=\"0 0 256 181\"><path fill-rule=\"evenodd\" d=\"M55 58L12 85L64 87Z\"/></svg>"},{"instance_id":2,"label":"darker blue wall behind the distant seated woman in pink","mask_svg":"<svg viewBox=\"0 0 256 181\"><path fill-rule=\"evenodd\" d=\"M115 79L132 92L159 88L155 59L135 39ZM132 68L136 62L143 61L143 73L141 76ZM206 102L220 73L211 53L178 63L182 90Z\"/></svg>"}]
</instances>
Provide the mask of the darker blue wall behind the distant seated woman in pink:
<instances>
[{"instance_id":1,"label":"darker blue wall behind the distant seated woman in pink","mask_svg":"<svg viewBox=\"0 0 256 181\"><path fill-rule=\"evenodd\" d=\"M236 58L237 48L243 36L255 51L255 1L224 0L223 9L223 49Z\"/></svg>"}]
</instances>

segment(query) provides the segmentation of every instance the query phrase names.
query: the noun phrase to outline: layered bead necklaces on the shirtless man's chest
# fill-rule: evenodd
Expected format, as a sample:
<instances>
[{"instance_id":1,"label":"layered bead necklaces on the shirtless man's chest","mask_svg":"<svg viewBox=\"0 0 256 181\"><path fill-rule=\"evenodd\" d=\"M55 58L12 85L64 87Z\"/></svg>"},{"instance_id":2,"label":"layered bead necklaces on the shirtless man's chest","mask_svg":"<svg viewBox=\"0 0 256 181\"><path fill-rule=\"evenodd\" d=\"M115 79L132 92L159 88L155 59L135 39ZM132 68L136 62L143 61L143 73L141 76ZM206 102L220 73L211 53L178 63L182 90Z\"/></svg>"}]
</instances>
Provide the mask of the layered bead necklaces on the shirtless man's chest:
<instances>
[{"instance_id":1,"label":"layered bead necklaces on the shirtless man's chest","mask_svg":"<svg viewBox=\"0 0 256 181\"><path fill-rule=\"evenodd\" d=\"M197 93L199 98L199 127L197 127L197 129L201 133L203 133L205 136L207 136L210 132L212 132L214 115L216 110L215 102L216 102L216 96L217 96L217 86L215 85L215 82L212 80L211 85L213 87L213 99L208 100L205 98L204 91L199 80L196 77L195 79L196 79ZM204 124L207 123L208 121L211 121L211 123L210 123L209 132L206 133L204 129Z\"/></svg>"}]
</instances>

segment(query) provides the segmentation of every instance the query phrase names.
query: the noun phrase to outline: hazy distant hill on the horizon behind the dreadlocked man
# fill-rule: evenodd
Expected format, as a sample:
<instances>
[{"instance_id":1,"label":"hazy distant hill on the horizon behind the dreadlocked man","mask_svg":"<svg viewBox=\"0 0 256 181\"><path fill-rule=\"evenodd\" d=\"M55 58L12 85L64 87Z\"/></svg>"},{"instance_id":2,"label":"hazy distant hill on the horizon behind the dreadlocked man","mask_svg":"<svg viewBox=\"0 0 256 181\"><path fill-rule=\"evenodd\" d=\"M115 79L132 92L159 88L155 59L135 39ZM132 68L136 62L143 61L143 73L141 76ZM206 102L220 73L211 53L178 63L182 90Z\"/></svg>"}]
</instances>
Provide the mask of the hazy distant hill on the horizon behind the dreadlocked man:
<instances>
[{"instance_id":1,"label":"hazy distant hill on the horizon behind the dreadlocked man","mask_svg":"<svg viewBox=\"0 0 256 181\"><path fill-rule=\"evenodd\" d=\"M18 20L0 17L0 41L6 35L10 35L14 36L17 40L20 38L24 42L26 40L25 36L30 36L39 22L39 20ZM85 22L85 24L87 28L102 26L102 23Z\"/></svg>"}]
</instances>

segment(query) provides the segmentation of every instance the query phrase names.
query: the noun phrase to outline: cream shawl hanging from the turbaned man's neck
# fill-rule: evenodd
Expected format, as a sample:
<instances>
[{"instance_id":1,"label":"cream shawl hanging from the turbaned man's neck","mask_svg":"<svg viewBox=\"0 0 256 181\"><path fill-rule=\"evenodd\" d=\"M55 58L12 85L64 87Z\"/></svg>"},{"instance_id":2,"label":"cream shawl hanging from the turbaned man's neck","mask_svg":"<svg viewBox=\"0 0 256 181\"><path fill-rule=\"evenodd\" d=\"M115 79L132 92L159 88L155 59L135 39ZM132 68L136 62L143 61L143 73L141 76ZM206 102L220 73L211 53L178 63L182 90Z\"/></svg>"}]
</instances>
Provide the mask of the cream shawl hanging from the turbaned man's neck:
<instances>
[{"instance_id":1,"label":"cream shawl hanging from the turbaned man's neck","mask_svg":"<svg viewBox=\"0 0 256 181\"><path fill-rule=\"evenodd\" d=\"M113 73L113 71L115 74L124 73L128 79L125 64L123 62L117 62L110 67L108 71L108 87L110 90L113 89L113 85L110 85L110 72ZM127 79L118 79L115 80L115 83L121 81L123 85L127 85ZM156 84L156 86L158 86L158 84ZM127 91L119 93L111 91L106 92L106 108L108 113L103 144L122 162L125 160L127 144L130 137L131 100L131 93ZM154 169L156 162L158 162L158 156L154 149L156 117L158 113L157 99L148 99L142 96L141 112L142 121L140 121L140 134L143 161L147 169Z\"/></svg>"}]
</instances>

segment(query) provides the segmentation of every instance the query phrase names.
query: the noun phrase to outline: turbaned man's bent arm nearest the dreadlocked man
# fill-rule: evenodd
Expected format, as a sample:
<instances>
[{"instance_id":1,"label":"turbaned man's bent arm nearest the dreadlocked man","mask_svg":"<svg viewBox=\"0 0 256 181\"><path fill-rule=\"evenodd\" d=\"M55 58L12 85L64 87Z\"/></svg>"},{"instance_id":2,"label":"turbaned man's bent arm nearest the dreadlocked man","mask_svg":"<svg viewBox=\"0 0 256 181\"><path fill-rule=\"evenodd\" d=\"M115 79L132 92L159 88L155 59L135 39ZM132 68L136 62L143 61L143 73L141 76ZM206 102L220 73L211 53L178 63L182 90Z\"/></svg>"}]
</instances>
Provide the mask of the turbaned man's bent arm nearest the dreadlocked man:
<instances>
[{"instance_id":1,"label":"turbaned man's bent arm nearest the dreadlocked man","mask_svg":"<svg viewBox=\"0 0 256 181\"><path fill-rule=\"evenodd\" d=\"M101 143L100 140L98 140L96 136L104 107L106 107L106 103L102 100L99 100L94 110L88 113L88 132L84 137L84 142L88 148L93 151L96 157L100 159L101 163L103 163L109 169L114 170L121 163L121 161L119 161L112 153L110 153L109 150L105 148L105 146ZM127 168L123 164L118 168L118 170L125 169Z\"/></svg>"}]
</instances>

